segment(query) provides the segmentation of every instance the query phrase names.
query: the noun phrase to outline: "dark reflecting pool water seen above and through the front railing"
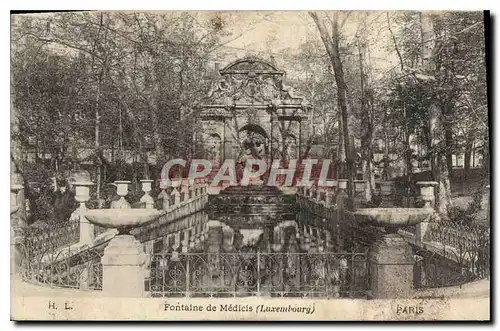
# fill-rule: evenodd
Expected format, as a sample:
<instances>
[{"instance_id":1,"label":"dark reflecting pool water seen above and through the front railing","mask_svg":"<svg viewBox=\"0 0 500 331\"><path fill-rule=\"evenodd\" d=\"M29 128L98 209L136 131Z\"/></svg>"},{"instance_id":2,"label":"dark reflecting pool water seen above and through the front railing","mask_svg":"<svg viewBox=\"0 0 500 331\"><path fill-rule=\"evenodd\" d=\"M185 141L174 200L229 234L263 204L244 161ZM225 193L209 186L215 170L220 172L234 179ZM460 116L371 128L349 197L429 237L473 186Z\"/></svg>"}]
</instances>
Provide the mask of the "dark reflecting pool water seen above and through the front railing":
<instances>
[{"instance_id":1,"label":"dark reflecting pool water seen above and through the front railing","mask_svg":"<svg viewBox=\"0 0 500 331\"><path fill-rule=\"evenodd\" d=\"M200 212L165 227L145 245L152 296L365 296L366 250L346 251L334 224L306 212L231 226Z\"/></svg>"}]
</instances>

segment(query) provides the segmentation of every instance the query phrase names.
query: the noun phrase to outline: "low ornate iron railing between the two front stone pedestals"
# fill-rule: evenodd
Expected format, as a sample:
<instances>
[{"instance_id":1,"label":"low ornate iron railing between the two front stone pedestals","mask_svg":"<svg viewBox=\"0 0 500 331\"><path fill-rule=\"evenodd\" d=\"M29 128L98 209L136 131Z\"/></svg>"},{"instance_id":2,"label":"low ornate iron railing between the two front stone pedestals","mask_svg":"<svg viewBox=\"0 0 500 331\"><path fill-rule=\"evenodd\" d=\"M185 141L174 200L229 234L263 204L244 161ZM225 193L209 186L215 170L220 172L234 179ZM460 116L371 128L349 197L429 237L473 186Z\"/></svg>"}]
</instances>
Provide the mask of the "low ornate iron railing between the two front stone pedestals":
<instances>
[{"instance_id":1,"label":"low ornate iron railing between the two front stone pedestals","mask_svg":"<svg viewBox=\"0 0 500 331\"><path fill-rule=\"evenodd\" d=\"M152 297L365 298L366 253L154 254Z\"/></svg>"}]
</instances>

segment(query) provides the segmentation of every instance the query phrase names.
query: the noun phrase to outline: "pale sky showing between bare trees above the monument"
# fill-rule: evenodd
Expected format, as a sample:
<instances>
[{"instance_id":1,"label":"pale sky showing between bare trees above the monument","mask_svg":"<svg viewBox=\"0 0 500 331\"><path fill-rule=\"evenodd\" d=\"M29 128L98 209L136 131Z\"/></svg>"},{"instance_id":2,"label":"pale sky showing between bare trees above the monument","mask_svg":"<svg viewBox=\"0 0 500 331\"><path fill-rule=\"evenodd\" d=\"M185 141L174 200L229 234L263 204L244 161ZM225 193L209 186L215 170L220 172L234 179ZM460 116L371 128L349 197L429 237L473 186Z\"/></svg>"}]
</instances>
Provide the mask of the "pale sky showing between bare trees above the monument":
<instances>
[{"instance_id":1,"label":"pale sky showing between bare trees above the monument","mask_svg":"<svg viewBox=\"0 0 500 331\"><path fill-rule=\"evenodd\" d=\"M365 13L369 26L368 40L373 76L377 78L397 64L385 13L353 12L346 19L342 32L348 41L352 41L361 25L361 16ZM344 13L341 15L345 16ZM260 55L268 59L272 53L280 69L287 71L288 75L293 75L290 72L293 67L293 64L289 63L291 59L280 52L284 49L298 49L308 40L321 40L317 27L307 12L224 12L222 17L232 30L232 35L225 39L236 39L219 50L217 56L221 66L245 55ZM393 30L397 28L393 26ZM290 55L289 52L286 54Z\"/></svg>"}]
</instances>

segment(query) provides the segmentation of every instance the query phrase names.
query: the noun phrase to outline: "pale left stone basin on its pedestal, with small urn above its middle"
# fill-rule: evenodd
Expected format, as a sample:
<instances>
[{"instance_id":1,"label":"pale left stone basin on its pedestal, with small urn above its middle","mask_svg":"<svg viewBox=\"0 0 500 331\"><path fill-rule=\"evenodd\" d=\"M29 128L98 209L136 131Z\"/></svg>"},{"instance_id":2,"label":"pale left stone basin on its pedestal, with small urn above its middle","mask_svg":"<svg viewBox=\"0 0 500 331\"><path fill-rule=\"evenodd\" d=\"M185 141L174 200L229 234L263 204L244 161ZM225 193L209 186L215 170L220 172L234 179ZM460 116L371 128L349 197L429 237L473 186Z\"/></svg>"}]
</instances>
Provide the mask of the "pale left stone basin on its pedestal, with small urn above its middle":
<instances>
[{"instance_id":1,"label":"pale left stone basin on its pedestal, with small urn above its middle","mask_svg":"<svg viewBox=\"0 0 500 331\"><path fill-rule=\"evenodd\" d=\"M113 297L143 297L149 257L130 231L153 222L161 212L150 208L132 209L130 205L127 208L124 197L128 183L119 182L117 189L120 200L123 200L115 208L93 209L85 213L89 222L118 230L118 234L104 249L101 259L102 290Z\"/></svg>"}]
</instances>

